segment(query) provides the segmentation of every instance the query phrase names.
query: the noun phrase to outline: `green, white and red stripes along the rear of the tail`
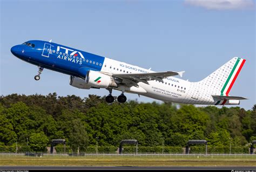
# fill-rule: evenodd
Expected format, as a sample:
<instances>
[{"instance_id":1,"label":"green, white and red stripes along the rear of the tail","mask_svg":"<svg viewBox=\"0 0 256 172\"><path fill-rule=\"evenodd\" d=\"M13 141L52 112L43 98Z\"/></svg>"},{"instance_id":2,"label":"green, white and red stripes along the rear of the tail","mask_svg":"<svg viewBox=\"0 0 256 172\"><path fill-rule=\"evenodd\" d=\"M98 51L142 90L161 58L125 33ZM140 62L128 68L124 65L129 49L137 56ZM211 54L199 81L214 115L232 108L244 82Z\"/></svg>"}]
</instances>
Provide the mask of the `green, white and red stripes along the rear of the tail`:
<instances>
[{"instance_id":1,"label":"green, white and red stripes along the rear of the tail","mask_svg":"<svg viewBox=\"0 0 256 172\"><path fill-rule=\"evenodd\" d=\"M227 77L227 80L221 89L220 95L228 96L228 93L230 93L230 90L232 86L234 85L235 80L238 77L239 72L241 71L242 66L245 64L245 59L238 58L237 61L235 61L235 64L230 72L230 74ZM224 105L227 100L223 100L221 105ZM221 101L217 101L215 105L219 105Z\"/></svg>"}]
</instances>

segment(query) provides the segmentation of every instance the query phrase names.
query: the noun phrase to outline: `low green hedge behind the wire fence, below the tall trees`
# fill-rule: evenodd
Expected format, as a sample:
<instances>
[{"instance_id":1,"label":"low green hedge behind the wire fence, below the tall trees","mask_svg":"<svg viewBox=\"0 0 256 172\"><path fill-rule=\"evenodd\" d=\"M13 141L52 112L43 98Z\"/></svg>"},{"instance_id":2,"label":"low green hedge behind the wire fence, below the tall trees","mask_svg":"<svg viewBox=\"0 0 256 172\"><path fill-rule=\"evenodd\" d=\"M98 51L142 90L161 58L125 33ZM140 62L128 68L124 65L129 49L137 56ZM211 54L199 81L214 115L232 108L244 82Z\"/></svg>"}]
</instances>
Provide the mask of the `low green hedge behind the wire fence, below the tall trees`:
<instances>
[{"instance_id":1,"label":"low green hedge behind the wire fence, below the tall trees","mask_svg":"<svg viewBox=\"0 0 256 172\"><path fill-rule=\"evenodd\" d=\"M171 146L156 146L145 147L138 146L137 154L185 154L184 147L171 147ZM45 149L43 154L50 153ZM89 146L86 150L72 150L70 147L64 147L63 145L57 145L53 153L57 154L118 154L119 148L114 146ZM28 146L0 146L0 153L33 153ZM254 149L254 154L256 149ZM122 154L136 154L136 146L124 146ZM205 146L191 146L189 154L206 154ZM207 154L250 154L250 148L247 146L207 146Z\"/></svg>"}]
</instances>

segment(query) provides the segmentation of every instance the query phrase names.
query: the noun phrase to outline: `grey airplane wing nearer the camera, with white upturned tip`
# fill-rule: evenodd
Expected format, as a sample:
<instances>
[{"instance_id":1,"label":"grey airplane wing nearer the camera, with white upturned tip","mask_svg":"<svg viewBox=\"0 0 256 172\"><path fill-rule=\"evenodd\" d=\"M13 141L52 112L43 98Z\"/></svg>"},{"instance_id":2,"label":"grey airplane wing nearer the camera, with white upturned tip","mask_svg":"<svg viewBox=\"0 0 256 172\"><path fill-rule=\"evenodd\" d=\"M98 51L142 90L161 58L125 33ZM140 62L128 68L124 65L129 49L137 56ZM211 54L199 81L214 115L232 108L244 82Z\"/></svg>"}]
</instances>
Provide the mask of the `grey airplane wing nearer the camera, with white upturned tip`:
<instances>
[{"instance_id":1,"label":"grey airplane wing nearer the camera, with white upturned tip","mask_svg":"<svg viewBox=\"0 0 256 172\"><path fill-rule=\"evenodd\" d=\"M112 77L116 79L116 81L119 81L118 84L125 84L130 86L138 86L138 82L143 82L145 84L149 84L149 80L158 80L160 82L163 82L163 79L166 77L171 77L175 75L180 75L182 77L182 72L173 72L173 71L167 71L167 72L152 72L152 73L127 73L127 74L112 74Z\"/></svg>"}]
</instances>

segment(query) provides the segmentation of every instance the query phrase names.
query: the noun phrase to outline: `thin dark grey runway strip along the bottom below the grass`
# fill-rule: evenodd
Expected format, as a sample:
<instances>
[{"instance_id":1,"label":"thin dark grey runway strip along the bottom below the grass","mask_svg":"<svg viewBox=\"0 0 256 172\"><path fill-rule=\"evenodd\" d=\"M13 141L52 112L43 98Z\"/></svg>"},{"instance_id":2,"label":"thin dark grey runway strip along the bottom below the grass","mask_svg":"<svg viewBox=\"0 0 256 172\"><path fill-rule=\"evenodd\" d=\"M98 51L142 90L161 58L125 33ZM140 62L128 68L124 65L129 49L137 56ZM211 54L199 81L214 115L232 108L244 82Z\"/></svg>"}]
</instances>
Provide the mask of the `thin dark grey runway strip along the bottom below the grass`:
<instances>
[{"instance_id":1,"label":"thin dark grey runway strip along the bottom below the grass","mask_svg":"<svg viewBox=\"0 0 256 172\"><path fill-rule=\"evenodd\" d=\"M0 166L0 170L256 170L256 167Z\"/></svg>"}]
</instances>

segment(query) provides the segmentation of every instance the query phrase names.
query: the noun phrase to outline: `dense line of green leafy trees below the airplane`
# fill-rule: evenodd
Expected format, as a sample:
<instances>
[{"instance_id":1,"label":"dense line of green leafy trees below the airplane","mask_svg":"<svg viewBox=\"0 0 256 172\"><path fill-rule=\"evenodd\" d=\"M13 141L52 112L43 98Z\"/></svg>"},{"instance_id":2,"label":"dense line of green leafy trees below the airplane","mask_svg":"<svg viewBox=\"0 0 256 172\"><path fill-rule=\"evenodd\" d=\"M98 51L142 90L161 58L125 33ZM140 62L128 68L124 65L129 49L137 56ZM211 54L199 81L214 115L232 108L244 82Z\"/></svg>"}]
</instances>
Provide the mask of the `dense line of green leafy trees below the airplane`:
<instances>
[{"instance_id":1,"label":"dense line of green leafy trees below the airplane","mask_svg":"<svg viewBox=\"0 0 256 172\"><path fill-rule=\"evenodd\" d=\"M99 147L118 147L124 139L136 139L142 147L185 147L188 140L207 140L217 147L249 146L256 140L256 105L246 111L133 100L109 105L97 95L0 97L0 152L1 146L16 143L44 151L52 139L65 139L71 150L86 150L96 142Z\"/></svg>"}]
</instances>

